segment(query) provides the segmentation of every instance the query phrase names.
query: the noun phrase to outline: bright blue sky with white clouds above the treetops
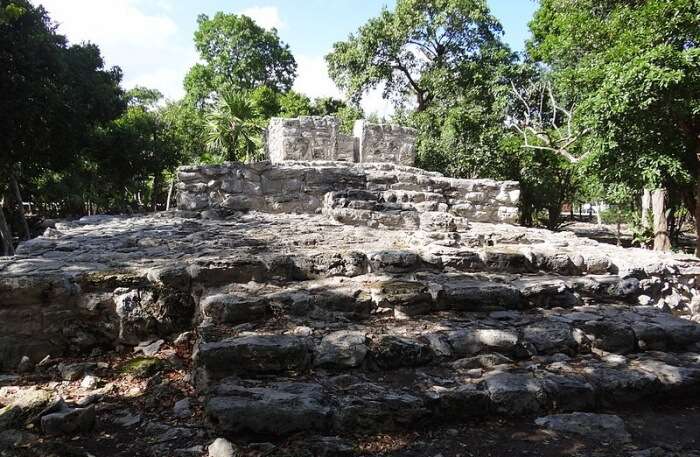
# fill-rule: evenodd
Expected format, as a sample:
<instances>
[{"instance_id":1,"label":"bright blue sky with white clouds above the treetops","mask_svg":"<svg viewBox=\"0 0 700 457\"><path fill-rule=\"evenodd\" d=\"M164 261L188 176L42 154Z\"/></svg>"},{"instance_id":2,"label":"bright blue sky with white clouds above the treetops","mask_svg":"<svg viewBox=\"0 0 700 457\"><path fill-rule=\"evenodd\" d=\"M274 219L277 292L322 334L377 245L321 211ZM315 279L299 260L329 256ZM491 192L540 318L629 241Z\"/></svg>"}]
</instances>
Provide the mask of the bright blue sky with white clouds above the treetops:
<instances>
[{"instance_id":1,"label":"bright blue sky with white clouds above the treetops","mask_svg":"<svg viewBox=\"0 0 700 457\"><path fill-rule=\"evenodd\" d=\"M333 43L347 38L394 0L33 0L42 4L73 43L90 41L108 66L124 72L123 86L159 89L167 98L184 94L182 81L197 62L193 35L197 16L217 11L246 14L266 28L276 28L297 60L294 89L307 96L343 94L328 77L323 57ZM528 37L534 0L487 0L501 21L504 40L516 51ZM367 113L390 114L379 90L362 100Z\"/></svg>"}]
</instances>

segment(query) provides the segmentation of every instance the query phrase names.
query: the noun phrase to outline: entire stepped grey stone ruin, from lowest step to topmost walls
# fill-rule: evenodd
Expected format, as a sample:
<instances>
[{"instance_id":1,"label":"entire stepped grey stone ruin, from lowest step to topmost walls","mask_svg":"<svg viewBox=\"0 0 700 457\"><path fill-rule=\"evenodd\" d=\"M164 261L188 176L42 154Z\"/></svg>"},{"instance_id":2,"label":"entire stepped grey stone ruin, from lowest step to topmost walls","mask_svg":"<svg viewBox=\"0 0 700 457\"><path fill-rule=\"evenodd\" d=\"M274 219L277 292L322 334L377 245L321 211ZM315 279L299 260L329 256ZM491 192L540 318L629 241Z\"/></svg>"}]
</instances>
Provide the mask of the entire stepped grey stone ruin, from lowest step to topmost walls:
<instances>
[{"instance_id":1,"label":"entire stepped grey stone ruin, from lowest step to topmost walls","mask_svg":"<svg viewBox=\"0 0 700 457\"><path fill-rule=\"evenodd\" d=\"M205 426L294 435L293 455L700 392L697 258L513 225L517 183L412 168L385 135L403 130L359 131L350 160L332 119L273 120L269 162L182 167L178 211L22 243L0 260L0 371L184 344Z\"/></svg>"}]
</instances>

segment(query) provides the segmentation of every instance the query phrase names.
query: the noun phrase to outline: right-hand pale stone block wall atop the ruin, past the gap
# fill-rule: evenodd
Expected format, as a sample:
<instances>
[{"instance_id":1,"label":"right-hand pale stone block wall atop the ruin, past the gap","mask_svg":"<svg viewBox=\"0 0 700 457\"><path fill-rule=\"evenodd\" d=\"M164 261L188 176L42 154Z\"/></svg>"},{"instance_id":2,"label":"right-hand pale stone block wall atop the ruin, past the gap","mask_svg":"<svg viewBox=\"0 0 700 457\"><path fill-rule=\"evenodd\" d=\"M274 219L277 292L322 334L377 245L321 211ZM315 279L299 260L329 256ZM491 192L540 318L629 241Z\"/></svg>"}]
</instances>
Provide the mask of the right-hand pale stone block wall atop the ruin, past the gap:
<instances>
[{"instance_id":1,"label":"right-hand pale stone block wall atop the ruin, past the gap","mask_svg":"<svg viewBox=\"0 0 700 457\"><path fill-rule=\"evenodd\" d=\"M358 162L389 162L413 166L416 162L416 131L390 124L355 122Z\"/></svg>"}]
</instances>

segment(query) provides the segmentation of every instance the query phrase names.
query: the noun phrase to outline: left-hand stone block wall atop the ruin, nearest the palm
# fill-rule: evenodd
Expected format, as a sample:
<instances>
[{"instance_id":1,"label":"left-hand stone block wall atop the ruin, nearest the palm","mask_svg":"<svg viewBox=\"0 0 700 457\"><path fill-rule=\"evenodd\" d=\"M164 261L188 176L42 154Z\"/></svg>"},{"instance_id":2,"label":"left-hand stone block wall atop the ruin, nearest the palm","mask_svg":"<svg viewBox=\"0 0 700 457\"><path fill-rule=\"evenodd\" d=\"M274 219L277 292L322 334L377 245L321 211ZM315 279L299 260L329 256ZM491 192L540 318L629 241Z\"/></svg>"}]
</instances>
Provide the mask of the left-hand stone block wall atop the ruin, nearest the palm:
<instances>
[{"instance_id":1,"label":"left-hand stone block wall atop the ruin, nearest the palm","mask_svg":"<svg viewBox=\"0 0 700 457\"><path fill-rule=\"evenodd\" d=\"M333 116L272 118L267 129L267 155L273 163L285 160L354 161L355 141L340 133Z\"/></svg>"}]
</instances>

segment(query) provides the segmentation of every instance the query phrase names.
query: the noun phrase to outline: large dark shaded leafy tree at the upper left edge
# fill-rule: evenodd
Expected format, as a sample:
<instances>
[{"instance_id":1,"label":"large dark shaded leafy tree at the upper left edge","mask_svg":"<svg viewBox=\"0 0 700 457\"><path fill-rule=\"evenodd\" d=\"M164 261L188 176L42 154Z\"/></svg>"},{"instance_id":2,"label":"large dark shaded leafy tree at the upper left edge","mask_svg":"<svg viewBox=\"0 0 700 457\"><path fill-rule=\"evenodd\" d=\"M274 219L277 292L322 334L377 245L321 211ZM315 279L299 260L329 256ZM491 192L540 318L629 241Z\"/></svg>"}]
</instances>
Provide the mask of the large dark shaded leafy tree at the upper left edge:
<instances>
[{"instance_id":1,"label":"large dark shaded leafy tree at the upper left edge","mask_svg":"<svg viewBox=\"0 0 700 457\"><path fill-rule=\"evenodd\" d=\"M42 7L1 0L0 12L0 190L10 184L22 216L19 189L75 167L94 129L123 111L121 71L95 45L69 46Z\"/></svg>"}]
</instances>

